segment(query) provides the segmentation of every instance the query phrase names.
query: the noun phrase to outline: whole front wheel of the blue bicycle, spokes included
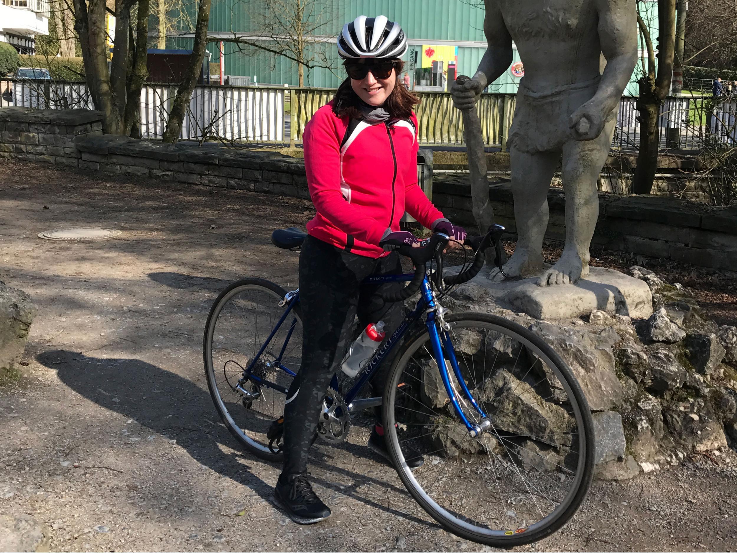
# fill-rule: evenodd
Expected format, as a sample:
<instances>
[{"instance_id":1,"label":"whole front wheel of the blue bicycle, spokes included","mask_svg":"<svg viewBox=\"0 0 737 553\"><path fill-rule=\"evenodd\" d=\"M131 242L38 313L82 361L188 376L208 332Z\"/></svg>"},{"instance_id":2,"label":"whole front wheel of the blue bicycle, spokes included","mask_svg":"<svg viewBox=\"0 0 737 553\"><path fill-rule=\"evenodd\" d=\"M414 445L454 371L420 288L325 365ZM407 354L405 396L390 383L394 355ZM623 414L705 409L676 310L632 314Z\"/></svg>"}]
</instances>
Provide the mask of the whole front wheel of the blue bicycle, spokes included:
<instances>
[{"instance_id":1,"label":"whole front wheel of the blue bicycle, spokes included","mask_svg":"<svg viewBox=\"0 0 737 553\"><path fill-rule=\"evenodd\" d=\"M461 538L509 548L541 540L576 512L593 475L591 414L579 383L534 333L482 313L446 317L469 396L445 364L477 437L450 403L427 330L392 366L383 414L388 448L413 498ZM410 470L407 451L425 464Z\"/></svg>"}]
</instances>

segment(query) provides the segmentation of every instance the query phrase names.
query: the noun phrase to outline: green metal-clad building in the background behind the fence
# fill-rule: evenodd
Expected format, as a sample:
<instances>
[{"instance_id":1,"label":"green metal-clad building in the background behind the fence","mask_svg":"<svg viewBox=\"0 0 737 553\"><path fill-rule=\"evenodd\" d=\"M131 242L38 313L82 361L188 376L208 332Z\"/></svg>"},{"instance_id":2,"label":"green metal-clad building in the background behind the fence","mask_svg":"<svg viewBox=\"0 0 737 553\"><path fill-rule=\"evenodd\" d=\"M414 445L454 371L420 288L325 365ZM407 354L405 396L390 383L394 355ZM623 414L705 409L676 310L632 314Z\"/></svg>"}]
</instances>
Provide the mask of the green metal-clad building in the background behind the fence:
<instances>
[{"instance_id":1,"label":"green metal-clad building in the background behind the fence","mask_svg":"<svg viewBox=\"0 0 737 553\"><path fill-rule=\"evenodd\" d=\"M259 7L268 0L214 0L210 15L209 33L212 37L233 37L259 35L259 21L254 21L249 14L259 13ZM481 0L302 0L314 2L315 13L321 18L323 25L317 37L311 37L308 49L316 56L325 52L327 66L304 69L304 86L317 88L336 88L345 78L340 67L340 58L335 48L335 37L343 24L352 21L358 15L386 15L391 21L399 21L408 36L409 50L405 61L417 56L416 68L411 72L412 86L439 85L438 72L440 64L436 59L436 75L433 69L422 69L431 63L431 54L441 60L441 71L446 72L451 55L457 52L455 74L472 75L486 51L486 39L483 35L483 7ZM473 5L477 4L477 5ZM638 2L643 19L652 29L652 36L657 37L657 1L644 0ZM192 16L196 16L192 13ZM326 42L332 39L332 42ZM184 48L192 44L188 38L170 39L173 47ZM269 46L269 42L259 39L260 44ZM217 43L208 46L213 62L220 60ZM224 43L225 74L251 77L251 83L283 86L298 85L297 65L292 60L273 55L251 46ZM415 54L416 52L416 54ZM441 54L439 54L441 52ZM640 50L641 55L646 52ZM456 60L453 60L456 61ZM514 61L509 71L505 72L495 83L489 86L490 92L511 94L517 91L520 80L520 65L515 65L520 58L514 49ZM411 66L408 65L408 69ZM626 93L636 95L637 80L641 72L640 65L635 70L632 83ZM453 72L451 72L451 75ZM422 89L422 88L420 88ZM437 88L436 88L437 89Z\"/></svg>"}]
</instances>

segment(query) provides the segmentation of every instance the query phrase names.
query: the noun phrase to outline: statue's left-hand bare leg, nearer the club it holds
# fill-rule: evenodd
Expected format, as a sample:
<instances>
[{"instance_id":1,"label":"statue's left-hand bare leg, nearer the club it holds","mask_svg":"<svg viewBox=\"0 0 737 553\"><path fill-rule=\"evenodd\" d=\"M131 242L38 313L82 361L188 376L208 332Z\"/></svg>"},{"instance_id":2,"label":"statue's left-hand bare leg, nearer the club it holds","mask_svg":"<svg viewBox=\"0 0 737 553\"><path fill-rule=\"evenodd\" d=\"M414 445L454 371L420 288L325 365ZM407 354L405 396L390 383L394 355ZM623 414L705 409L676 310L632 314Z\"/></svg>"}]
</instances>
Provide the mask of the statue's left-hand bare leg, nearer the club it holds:
<instances>
[{"instance_id":1,"label":"statue's left-hand bare leg, nearer the club it holds","mask_svg":"<svg viewBox=\"0 0 737 553\"><path fill-rule=\"evenodd\" d=\"M517 246L504 265L508 277L534 277L545 269L542 239L548 229L548 189L559 159L559 152L525 153L516 147L509 151ZM489 278L503 277L495 268Z\"/></svg>"}]
</instances>

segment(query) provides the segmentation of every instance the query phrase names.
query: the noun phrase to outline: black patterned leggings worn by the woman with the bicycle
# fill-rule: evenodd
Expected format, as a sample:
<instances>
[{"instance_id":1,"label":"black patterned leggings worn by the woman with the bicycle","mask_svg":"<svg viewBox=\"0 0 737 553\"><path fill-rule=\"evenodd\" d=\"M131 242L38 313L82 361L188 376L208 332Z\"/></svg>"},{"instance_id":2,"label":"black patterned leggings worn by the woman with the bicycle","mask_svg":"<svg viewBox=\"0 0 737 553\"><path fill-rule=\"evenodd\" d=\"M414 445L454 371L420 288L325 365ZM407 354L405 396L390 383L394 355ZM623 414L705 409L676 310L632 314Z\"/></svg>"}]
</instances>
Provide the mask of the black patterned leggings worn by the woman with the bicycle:
<instances>
[{"instance_id":1,"label":"black patterned leggings worn by the woman with the bicycle","mask_svg":"<svg viewBox=\"0 0 737 553\"><path fill-rule=\"evenodd\" d=\"M359 327L377 321L393 333L404 317L402 303L387 304L380 292L402 283L361 286L374 274L399 274L396 252L380 259L363 257L308 236L299 255L299 302L302 310L302 364L287 393L284 407L284 476L307 470L307 451L317 428L319 410L332 375ZM394 347L392 353L399 351ZM391 358L371 380L374 394L384 392Z\"/></svg>"}]
</instances>

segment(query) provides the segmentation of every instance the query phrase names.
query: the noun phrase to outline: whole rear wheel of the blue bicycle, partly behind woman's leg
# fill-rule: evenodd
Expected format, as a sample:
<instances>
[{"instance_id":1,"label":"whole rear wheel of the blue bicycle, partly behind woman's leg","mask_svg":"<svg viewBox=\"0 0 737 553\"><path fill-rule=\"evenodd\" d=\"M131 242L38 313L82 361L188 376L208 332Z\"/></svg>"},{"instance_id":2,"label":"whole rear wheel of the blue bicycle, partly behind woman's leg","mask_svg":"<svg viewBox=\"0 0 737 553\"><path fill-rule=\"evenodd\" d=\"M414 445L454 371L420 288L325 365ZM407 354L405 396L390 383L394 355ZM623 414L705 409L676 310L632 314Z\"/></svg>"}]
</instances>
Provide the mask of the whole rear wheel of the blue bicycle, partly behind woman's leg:
<instances>
[{"instance_id":1,"label":"whole rear wheel of the blue bicycle, partly behind woman's leg","mask_svg":"<svg viewBox=\"0 0 737 553\"><path fill-rule=\"evenodd\" d=\"M282 321L287 306L279 302L286 293L264 279L234 282L215 300L203 344L207 385L220 417L249 451L269 461L282 458L269 448L267 433L284 414L293 379L287 370L296 373L302 357L299 306Z\"/></svg>"}]
</instances>

